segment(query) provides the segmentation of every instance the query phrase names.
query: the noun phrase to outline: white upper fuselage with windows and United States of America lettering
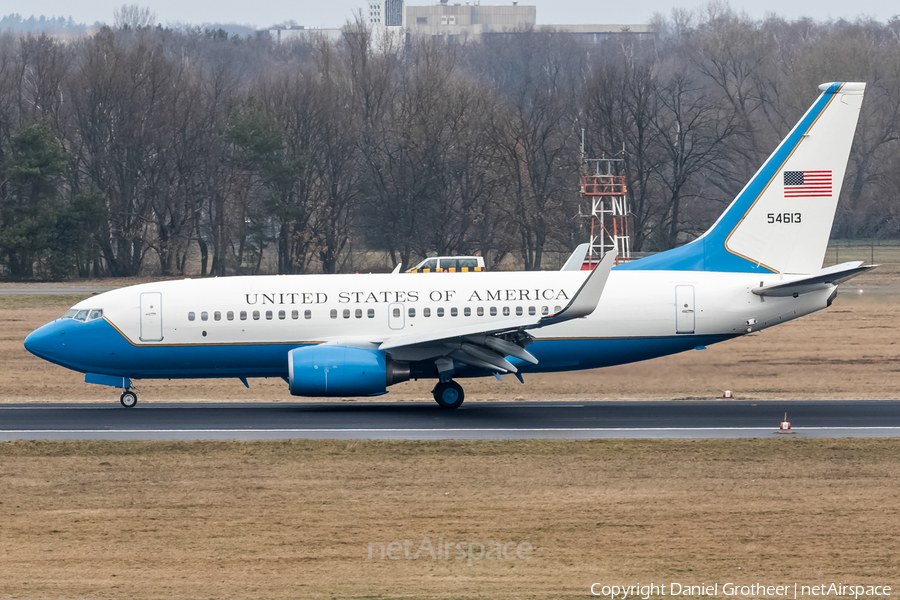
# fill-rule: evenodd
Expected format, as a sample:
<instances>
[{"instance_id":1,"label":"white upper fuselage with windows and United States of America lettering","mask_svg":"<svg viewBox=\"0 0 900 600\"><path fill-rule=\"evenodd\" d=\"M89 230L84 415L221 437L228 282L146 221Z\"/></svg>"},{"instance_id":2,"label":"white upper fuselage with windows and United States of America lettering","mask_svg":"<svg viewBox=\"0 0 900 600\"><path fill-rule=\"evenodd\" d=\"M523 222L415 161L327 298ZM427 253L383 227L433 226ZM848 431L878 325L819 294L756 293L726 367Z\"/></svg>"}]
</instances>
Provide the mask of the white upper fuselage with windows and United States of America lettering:
<instances>
[{"instance_id":1,"label":"white upper fuselage with windows and United States of America lettering","mask_svg":"<svg viewBox=\"0 0 900 600\"><path fill-rule=\"evenodd\" d=\"M114 290L74 308L102 308L105 318L132 345L142 347L342 340L379 343L401 332L440 331L517 315L552 314L575 295L586 274L185 279ZM593 314L530 333L536 340L734 336L824 308L832 291L798 298L764 298L751 292L754 287L779 281L780 275L614 269ZM147 293L160 294L159 340L154 339L159 336L147 334L148 324L142 321L141 296ZM676 295L681 296L678 302Z\"/></svg>"}]
</instances>

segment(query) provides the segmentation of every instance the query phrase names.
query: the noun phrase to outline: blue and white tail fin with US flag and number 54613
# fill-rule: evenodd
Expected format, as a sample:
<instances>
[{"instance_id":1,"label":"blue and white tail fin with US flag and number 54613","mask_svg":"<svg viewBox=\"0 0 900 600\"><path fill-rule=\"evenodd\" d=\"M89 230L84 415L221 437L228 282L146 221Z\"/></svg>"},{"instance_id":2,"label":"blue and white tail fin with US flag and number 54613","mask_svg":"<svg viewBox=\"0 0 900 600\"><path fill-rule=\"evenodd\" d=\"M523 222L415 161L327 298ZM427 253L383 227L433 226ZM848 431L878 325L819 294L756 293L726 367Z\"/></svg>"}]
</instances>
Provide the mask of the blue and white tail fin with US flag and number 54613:
<instances>
[{"instance_id":1,"label":"blue and white tail fin with US flag and number 54613","mask_svg":"<svg viewBox=\"0 0 900 600\"><path fill-rule=\"evenodd\" d=\"M803 274L821 269L865 88L820 85L816 102L709 231L618 268Z\"/></svg>"}]
</instances>

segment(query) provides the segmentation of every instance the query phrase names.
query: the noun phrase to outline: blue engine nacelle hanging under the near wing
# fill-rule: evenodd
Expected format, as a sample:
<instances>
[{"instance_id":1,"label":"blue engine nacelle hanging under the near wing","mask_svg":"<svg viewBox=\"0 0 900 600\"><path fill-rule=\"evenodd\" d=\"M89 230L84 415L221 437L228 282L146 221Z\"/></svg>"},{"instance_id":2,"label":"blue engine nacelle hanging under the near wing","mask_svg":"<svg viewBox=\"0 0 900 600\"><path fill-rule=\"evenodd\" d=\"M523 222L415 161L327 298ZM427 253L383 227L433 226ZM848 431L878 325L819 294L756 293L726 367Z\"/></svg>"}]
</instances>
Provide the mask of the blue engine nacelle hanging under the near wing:
<instances>
[{"instance_id":1,"label":"blue engine nacelle hanging under the near wing","mask_svg":"<svg viewBox=\"0 0 900 600\"><path fill-rule=\"evenodd\" d=\"M378 396L408 380L409 365L379 350L320 344L288 353L292 396Z\"/></svg>"}]
</instances>

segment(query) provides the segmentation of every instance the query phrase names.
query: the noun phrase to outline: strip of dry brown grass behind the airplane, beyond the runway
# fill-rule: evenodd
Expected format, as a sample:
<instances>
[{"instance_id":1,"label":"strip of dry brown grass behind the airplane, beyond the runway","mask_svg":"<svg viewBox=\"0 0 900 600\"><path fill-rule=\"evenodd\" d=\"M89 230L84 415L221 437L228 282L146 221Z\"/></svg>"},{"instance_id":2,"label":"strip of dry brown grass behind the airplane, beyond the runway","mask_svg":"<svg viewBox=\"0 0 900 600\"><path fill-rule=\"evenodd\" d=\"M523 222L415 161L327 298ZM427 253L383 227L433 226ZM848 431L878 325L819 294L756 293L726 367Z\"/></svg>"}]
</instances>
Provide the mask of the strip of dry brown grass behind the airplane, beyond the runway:
<instances>
[{"instance_id":1,"label":"strip of dry brown grass behind the airplane, beyond the runway","mask_svg":"<svg viewBox=\"0 0 900 600\"><path fill-rule=\"evenodd\" d=\"M844 259L842 255L842 260ZM705 351L595 371L464 381L468 402L713 398L731 389L740 399L900 398L900 277L886 272L852 283L865 294L841 293L827 310ZM0 402L79 402L109 399L109 388L25 351L22 340L60 316L79 296L0 296ZM142 381L144 401L286 401L280 379ZM433 382L390 388L379 402L430 400ZM351 400L353 401L353 400Z\"/></svg>"}]
</instances>

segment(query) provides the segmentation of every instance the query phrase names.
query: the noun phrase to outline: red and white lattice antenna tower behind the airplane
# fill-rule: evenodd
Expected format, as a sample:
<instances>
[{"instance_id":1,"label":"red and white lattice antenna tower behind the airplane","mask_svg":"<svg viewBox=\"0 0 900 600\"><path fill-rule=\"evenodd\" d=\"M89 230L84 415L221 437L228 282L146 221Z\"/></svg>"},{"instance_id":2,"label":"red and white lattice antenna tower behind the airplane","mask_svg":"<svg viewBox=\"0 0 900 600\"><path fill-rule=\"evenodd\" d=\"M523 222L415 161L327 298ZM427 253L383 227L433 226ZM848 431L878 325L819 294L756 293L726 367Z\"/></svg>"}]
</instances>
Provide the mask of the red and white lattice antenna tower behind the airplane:
<instances>
[{"instance_id":1,"label":"red and white lattice antenna tower behind the airplane","mask_svg":"<svg viewBox=\"0 0 900 600\"><path fill-rule=\"evenodd\" d=\"M591 201L591 247L583 270L593 269L608 252L616 254L616 264L631 260L628 229L628 190L623 175L613 175L613 163L622 158L584 158L584 131L581 139L581 195ZM618 165L616 165L618 166Z\"/></svg>"}]
</instances>

